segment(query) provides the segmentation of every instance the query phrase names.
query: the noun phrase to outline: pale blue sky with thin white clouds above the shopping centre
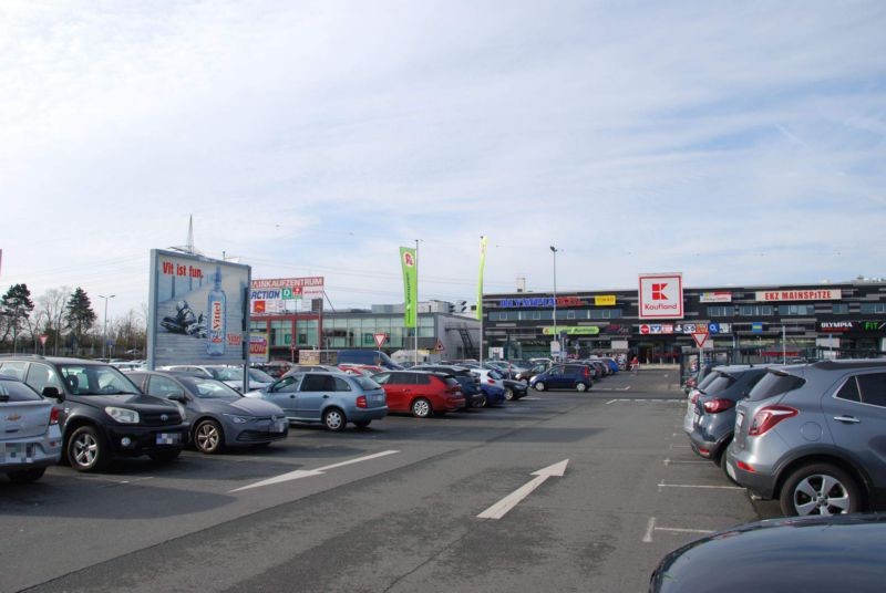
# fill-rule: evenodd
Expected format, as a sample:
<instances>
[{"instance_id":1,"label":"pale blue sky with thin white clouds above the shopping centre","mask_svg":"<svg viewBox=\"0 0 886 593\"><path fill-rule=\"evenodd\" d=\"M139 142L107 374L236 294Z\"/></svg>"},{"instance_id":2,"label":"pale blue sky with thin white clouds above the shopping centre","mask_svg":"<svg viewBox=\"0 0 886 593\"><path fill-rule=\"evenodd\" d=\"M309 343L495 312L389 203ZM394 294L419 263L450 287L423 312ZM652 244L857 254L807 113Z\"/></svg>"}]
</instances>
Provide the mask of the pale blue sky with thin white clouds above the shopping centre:
<instances>
[{"instance_id":1,"label":"pale blue sky with thin white clouds above the shopping centre","mask_svg":"<svg viewBox=\"0 0 886 593\"><path fill-rule=\"evenodd\" d=\"M0 288L185 242L336 308L883 277L886 3L7 1Z\"/></svg>"}]
</instances>

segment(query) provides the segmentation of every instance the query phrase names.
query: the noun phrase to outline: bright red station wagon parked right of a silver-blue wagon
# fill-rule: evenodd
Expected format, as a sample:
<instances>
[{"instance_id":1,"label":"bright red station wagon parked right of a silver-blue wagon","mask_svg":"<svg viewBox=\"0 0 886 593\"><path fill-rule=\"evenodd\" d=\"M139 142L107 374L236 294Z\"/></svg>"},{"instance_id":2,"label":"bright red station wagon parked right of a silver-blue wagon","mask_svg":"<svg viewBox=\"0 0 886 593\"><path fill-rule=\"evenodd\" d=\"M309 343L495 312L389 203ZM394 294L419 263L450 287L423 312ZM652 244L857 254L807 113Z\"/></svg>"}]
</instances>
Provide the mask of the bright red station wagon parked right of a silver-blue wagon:
<instances>
[{"instance_id":1,"label":"bright red station wagon parked right of a silver-blue wagon","mask_svg":"<svg viewBox=\"0 0 886 593\"><path fill-rule=\"evenodd\" d=\"M464 407L462 386L451 375L424 371L385 371L372 379L384 388L389 412L416 418Z\"/></svg>"}]
</instances>

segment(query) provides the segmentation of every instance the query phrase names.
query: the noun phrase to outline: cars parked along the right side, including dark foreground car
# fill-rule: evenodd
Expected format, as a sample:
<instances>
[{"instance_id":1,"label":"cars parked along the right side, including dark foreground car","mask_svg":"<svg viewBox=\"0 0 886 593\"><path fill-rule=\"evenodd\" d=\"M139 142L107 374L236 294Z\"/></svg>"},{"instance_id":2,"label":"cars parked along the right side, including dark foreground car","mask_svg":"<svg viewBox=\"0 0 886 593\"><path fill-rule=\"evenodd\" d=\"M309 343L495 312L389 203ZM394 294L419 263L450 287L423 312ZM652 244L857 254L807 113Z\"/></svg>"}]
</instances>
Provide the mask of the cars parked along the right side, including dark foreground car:
<instances>
[{"instance_id":1,"label":"cars parked along the right side, including dark foreground car","mask_svg":"<svg viewBox=\"0 0 886 593\"><path fill-rule=\"evenodd\" d=\"M650 591L884 590L886 360L718 366L688 397L692 449L786 518L674 550Z\"/></svg>"}]
</instances>

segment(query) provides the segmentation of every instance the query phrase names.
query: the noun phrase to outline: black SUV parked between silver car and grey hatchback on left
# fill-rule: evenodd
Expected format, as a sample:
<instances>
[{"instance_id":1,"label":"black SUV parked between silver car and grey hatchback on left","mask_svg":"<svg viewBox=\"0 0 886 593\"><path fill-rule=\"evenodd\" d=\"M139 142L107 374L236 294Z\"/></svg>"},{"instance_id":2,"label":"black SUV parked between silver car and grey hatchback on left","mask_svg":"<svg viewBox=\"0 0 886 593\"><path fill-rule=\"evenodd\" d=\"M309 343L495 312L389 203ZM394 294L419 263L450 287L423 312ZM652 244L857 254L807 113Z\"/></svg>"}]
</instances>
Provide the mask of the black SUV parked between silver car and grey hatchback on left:
<instances>
[{"instance_id":1,"label":"black SUV parked between silver car and grey hatchback on left","mask_svg":"<svg viewBox=\"0 0 886 593\"><path fill-rule=\"evenodd\" d=\"M64 399L62 451L78 471L103 469L115 456L172 461L188 441L182 406L142 394L109 364L22 355L0 360L0 373Z\"/></svg>"}]
</instances>

